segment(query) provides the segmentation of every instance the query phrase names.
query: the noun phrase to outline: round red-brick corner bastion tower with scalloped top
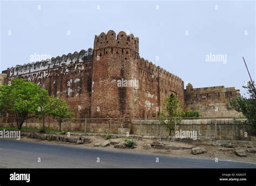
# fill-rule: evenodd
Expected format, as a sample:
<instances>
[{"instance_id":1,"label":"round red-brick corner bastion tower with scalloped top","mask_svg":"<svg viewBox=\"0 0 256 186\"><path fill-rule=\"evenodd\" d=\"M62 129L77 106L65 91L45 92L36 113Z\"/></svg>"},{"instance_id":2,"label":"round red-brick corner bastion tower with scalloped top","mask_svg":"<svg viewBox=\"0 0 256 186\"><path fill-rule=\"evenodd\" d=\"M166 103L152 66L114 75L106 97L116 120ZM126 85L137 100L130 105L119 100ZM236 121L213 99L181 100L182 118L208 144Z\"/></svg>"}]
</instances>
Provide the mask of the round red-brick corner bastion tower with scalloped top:
<instances>
[{"instance_id":1,"label":"round red-brick corner bastion tower with scalloped top","mask_svg":"<svg viewBox=\"0 0 256 186\"><path fill-rule=\"evenodd\" d=\"M95 35L93 49L92 117L134 117L139 79L133 70L139 58L139 39L110 30Z\"/></svg>"}]
</instances>

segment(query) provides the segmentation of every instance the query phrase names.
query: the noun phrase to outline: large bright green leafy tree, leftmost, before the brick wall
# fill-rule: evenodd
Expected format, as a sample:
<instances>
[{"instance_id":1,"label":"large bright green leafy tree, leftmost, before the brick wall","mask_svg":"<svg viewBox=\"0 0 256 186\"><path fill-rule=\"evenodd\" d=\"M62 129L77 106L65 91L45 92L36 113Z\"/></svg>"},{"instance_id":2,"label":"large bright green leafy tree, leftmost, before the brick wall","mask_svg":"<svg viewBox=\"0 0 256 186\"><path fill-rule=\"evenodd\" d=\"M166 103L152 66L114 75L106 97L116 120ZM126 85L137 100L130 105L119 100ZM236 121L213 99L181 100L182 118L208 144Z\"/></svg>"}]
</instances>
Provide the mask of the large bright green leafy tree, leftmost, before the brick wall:
<instances>
[{"instance_id":1,"label":"large bright green leafy tree, leftmost, before the brick wall","mask_svg":"<svg viewBox=\"0 0 256 186\"><path fill-rule=\"evenodd\" d=\"M18 130L21 130L26 119L41 114L42 104L47 102L47 97L48 91L37 84L15 78L10 85L0 87L0 111L14 117Z\"/></svg>"}]
</instances>

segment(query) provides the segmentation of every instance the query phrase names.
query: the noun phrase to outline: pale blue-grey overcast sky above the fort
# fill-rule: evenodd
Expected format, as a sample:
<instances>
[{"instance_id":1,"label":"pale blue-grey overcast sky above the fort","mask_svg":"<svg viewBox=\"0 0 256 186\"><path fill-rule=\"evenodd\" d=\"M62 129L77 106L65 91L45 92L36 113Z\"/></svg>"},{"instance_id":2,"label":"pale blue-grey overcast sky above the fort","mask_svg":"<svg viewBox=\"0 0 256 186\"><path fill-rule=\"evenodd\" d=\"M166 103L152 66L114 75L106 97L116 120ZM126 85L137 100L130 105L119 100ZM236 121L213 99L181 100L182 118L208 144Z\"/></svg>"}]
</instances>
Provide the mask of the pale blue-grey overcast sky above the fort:
<instances>
[{"instance_id":1,"label":"pale blue-grey overcast sky above the fort","mask_svg":"<svg viewBox=\"0 0 256 186\"><path fill-rule=\"evenodd\" d=\"M194 88L244 93L242 56L255 80L254 1L1 1L0 25L1 71L35 53L93 48L95 34L114 30L139 37L141 57Z\"/></svg>"}]
</instances>

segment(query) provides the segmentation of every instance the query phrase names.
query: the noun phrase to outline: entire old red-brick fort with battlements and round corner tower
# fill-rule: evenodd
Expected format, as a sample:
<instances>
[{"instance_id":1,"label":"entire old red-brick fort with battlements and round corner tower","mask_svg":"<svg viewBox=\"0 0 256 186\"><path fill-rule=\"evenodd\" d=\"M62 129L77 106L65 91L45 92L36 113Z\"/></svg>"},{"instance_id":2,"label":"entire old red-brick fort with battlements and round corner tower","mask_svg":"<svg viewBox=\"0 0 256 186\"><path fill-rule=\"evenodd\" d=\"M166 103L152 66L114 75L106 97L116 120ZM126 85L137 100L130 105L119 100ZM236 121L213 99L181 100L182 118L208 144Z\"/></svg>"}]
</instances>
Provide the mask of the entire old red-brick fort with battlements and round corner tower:
<instances>
[{"instance_id":1,"label":"entire old red-brick fort with battlements and round corner tower","mask_svg":"<svg viewBox=\"0 0 256 186\"><path fill-rule=\"evenodd\" d=\"M139 55L139 38L110 30L95 35L94 47L2 71L0 84L25 78L68 100L76 118L152 118L164 99L177 95L184 110L200 117L234 117L228 99L239 96L234 87L193 88L169 71ZM125 86L136 80L138 86ZM118 86L118 82L123 82ZM4 119L3 119L4 120ZM7 122L7 120L4 120Z\"/></svg>"}]
</instances>

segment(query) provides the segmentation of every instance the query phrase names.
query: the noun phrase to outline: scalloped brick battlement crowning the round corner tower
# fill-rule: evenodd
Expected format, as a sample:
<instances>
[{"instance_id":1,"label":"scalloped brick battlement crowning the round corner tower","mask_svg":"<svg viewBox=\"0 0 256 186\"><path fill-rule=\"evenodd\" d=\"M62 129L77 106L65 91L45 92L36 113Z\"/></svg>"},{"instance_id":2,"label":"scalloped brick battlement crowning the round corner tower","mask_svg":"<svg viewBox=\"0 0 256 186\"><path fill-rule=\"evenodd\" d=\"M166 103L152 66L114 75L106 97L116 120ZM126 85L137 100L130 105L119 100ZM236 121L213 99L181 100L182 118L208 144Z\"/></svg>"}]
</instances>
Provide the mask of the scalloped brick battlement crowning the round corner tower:
<instances>
[{"instance_id":1,"label":"scalloped brick battlement crowning the round corner tower","mask_svg":"<svg viewBox=\"0 0 256 186\"><path fill-rule=\"evenodd\" d=\"M124 31L120 31L116 35L116 32L112 30L95 35L94 49L107 47L130 48L139 53L139 38L134 37L133 34L127 35Z\"/></svg>"}]
</instances>

